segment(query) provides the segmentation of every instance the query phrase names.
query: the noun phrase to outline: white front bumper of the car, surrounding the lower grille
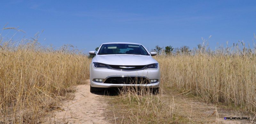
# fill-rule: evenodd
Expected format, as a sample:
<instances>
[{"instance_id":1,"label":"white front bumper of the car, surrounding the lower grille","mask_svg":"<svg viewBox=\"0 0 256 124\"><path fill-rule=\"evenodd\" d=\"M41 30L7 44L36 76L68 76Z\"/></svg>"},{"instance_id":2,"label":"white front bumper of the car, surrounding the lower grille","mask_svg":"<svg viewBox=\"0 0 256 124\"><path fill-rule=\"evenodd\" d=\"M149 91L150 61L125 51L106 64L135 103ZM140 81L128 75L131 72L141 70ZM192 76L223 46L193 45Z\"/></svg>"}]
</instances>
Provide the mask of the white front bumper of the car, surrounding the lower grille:
<instances>
[{"instance_id":1,"label":"white front bumper of the car, surrounding the lower grille","mask_svg":"<svg viewBox=\"0 0 256 124\"><path fill-rule=\"evenodd\" d=\"M111 76L143 76L148 79L158 79L157 82L149 84L107 84L96 82L93 79L106 79ZM145 69L138 71L118 71L113 69L95 69L92 66L90 67L90 84L92 87L135 87L135 86L144 86L145 88L156 88L160 86L160 69Z\"/></svg>"}]
</instances>

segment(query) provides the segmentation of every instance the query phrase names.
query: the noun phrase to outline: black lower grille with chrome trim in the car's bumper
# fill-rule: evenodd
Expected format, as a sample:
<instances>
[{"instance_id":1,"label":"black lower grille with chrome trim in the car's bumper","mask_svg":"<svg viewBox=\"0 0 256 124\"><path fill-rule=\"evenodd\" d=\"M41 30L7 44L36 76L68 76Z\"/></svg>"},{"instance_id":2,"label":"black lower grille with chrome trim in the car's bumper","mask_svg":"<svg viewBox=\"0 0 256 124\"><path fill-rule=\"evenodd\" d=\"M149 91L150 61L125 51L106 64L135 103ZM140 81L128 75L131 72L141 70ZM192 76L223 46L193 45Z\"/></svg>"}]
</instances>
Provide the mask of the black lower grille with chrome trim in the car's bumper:
<instances>
[{"instance_id":1,"label":"black lower grille with chrome trim in the car's bumper","mask_svg":"<svg viewBox=\"0 0 256 124\"><path fill-rule=\"evenodd\" d=\"M106 84L149 84L145 77L109 77L104 81Z\"/></svg>"}]
</instances>

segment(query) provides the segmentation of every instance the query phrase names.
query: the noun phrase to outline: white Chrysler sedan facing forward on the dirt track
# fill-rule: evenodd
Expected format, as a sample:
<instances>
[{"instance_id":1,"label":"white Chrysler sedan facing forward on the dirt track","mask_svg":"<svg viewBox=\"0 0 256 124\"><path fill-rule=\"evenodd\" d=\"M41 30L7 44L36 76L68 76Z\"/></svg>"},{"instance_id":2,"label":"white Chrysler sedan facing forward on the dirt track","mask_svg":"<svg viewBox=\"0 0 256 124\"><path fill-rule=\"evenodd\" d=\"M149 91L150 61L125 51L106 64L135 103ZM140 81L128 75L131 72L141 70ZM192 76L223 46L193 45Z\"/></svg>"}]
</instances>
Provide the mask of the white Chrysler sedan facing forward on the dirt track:
<instances>
[{"instance_id":1,"label":"white Chrysler sedan facing forward on the dirt track","mask_svg":"<svg viewBox=\"0 0 256 124\"><path fill-rule=\"evenodd\" d=\"M152 58L156 52L148 52L141 44L112 42L100 45L90 64L91 92L108 87L150 88L159 92L160 68Z\"/></svg>"}]
</instances>

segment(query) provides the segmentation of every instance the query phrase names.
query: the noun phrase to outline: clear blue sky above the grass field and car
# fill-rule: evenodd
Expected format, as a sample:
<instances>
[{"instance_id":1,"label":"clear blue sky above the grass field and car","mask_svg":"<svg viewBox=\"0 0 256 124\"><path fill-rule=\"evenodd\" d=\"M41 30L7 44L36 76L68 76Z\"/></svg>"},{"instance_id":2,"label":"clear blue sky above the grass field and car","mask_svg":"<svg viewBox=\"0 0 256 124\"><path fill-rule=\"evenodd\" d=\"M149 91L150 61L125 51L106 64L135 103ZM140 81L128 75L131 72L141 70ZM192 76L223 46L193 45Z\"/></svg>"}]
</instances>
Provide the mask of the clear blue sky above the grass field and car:
<instances>
[{"instance_id":1,"label":"clear blue sky above the grass field and car","mask_svg":"<svg viewBox=\"0 0 256 124\"><path fill-rule=\"evenodd\" d=\"M102 0L102 1L1 1L0 27L17 27L15 38L36 32L42 45L63 44L92 51L104 42L141 43L190 48L207 39L212 49L239 40L253 44L256 1L208 0ZM3 31L2 36L14 34Z\"/></svg>"}]
</instances>

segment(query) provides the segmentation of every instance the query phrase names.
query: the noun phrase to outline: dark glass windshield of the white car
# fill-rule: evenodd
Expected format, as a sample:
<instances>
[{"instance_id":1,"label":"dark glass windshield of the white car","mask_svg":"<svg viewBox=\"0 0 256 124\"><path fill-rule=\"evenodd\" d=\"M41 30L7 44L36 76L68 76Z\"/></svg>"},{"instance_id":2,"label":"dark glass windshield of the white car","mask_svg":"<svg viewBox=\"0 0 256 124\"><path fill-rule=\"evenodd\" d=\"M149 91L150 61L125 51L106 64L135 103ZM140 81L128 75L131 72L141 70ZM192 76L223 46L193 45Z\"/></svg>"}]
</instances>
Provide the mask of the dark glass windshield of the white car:
<instances>
[{"instance_id":1,"label":"dark glass windshield of the white car","mask_svg":"<svg viewBox=\"0 0 256 124\"><path fill-rule=\"evenodd\" d=\"M98 55L106 54L133 54L149 56L148 52L142 45L136 44L103 44L100 47Z\"/></svg>"}]
</instances>

